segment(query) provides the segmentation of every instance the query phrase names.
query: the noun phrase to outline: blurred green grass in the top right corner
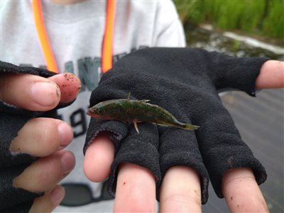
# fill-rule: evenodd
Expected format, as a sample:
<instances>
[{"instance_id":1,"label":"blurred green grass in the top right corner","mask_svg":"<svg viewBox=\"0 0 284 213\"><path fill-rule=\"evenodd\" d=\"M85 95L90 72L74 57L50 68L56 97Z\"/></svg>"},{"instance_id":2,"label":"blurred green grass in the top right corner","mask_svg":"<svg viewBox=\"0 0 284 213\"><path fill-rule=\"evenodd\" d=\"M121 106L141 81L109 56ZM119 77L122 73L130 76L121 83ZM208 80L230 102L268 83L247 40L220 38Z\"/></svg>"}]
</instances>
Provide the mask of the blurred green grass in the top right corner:
<instances>
[{"instance_id":1,"label":"blurred green grass in the top right corner","mask_svg":"<svg viewBox=\"0 0 284 213\"><path fill-rule=\"evenodd\" d=\"M174 0L183 23L284 41L284 0Z\"/></svg>"}]
</instances>

